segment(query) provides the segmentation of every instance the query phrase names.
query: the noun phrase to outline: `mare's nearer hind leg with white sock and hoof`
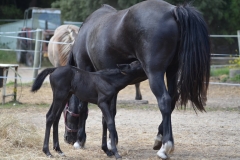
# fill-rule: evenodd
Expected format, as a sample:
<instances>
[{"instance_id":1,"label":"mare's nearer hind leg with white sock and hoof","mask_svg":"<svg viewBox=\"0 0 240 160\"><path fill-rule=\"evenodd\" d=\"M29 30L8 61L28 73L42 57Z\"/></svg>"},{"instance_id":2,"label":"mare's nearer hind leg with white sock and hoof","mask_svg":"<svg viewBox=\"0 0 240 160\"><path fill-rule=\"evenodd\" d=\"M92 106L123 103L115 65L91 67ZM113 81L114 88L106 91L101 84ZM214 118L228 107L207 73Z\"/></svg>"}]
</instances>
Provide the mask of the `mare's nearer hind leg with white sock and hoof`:
<instances>
[{"instance_id":1,"label":"mare's nearer hind leg with white sock and hoof","mask_svg":"<svg viewBox=\"0 0 240 160\"><path fill-rule=\"evenodd\" d=\"M174 148L172 124L171 124L171 97L165 87L164 72L156 72L148 74L149 83L153 94L158 101L158 107L162 114L163 136L162 147L157 155L162 159L168 158L168 154Z\"/></svg>"}]
</instances>

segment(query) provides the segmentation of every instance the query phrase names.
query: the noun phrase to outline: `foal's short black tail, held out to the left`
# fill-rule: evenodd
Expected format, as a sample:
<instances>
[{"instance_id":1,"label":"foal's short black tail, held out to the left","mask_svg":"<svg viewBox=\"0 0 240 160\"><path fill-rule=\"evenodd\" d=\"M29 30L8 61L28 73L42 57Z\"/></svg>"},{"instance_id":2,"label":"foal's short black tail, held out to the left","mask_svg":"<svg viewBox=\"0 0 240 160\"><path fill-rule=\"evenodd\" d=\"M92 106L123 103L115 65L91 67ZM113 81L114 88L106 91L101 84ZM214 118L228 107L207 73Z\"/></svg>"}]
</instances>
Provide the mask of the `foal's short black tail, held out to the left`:
<instances>
[{"instance_id":1,"label":"foal's short black tail, held out to the left","mask_svg":"<svg viewBox=\"0 0 240 160\"><path fill-rule=\"evenodd\" d=\"M36 92L37 90L39 90L43 84L44 79L47 77L47 75L52 73L55 69L56 68L47 68L43 70L41 73L39 73L32 85L31 91Z\"/></svg>"}]
</instances>

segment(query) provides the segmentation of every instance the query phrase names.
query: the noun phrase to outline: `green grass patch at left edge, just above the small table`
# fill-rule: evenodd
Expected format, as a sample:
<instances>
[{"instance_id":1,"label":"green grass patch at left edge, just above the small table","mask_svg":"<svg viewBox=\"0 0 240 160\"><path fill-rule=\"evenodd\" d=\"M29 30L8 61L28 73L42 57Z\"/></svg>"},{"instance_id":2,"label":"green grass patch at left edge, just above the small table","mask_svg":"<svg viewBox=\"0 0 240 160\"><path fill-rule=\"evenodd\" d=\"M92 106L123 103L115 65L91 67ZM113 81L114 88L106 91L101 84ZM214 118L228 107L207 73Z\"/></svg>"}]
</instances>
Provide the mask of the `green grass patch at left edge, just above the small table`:
<instances>
[{"instance_id":1,"label":"green grass patch at left edge, just above the small table","mask_svg":"<svg viewBox=\"0 0 240 160\"><path fill-rule=\"evenodd\" d=\"M15 52L0 51L0 63L16 64L17 58Z\"/></svg>"}]
</instances>

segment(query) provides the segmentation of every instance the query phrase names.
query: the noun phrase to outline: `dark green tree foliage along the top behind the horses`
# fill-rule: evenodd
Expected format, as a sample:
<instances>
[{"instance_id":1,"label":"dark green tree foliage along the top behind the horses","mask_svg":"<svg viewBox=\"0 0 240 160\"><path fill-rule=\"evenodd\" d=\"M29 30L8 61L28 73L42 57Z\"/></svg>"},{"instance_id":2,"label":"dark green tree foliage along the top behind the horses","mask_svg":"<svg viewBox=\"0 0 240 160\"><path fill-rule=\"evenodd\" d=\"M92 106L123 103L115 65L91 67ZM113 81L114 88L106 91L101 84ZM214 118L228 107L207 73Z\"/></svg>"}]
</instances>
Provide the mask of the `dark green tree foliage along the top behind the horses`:
<instances>
[{"instance_id":1,"label":"dark green tree foliage along the top behind the horses","mask_svg":"<svg viewBox=\"0 0 240 160\"><path fill-rule=\"evenodd\" d=\"M23 18L29 7L60 8L62 19L84 21L102 4L125 9L144 0L1 0L0 18ZM191 2L208 23L211 34L236 34L240 30L240 0L165 0L173 5ZM51 4L51 6L50 6Z\"/></svg>"}]
</instances>

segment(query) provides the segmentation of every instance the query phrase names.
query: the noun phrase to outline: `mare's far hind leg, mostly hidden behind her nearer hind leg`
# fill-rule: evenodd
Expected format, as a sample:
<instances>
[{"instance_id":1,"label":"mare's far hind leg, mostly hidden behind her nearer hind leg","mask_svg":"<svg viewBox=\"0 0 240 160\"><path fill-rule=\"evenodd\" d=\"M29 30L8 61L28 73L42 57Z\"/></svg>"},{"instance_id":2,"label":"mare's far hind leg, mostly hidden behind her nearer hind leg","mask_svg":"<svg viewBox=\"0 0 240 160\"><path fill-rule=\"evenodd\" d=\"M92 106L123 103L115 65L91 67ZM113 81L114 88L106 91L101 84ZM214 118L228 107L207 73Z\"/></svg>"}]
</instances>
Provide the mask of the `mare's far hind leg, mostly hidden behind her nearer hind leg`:
<instances>
[{"instance_id":1,"label":"mare's far hind leg, mostly hidden behind her nearer hind leg","mask_svg":"<svg viewBox=\"0 0 240 160\"><path fill-rule=\"evenodd\" d=\"M176 63L177 64L177 63ZM168 93L172 99L171 101L171 110L173 111L178 100L177 94L177 77L178 77L178 66L172 65L168 67L166 71ZM158 127L158 134L155 138L155 143L153 145L154 150L159 150L162 146L162 135L163 135L163 123ZM173 151L173 148L172 148Z\"/></svg>"}]
</instances>

